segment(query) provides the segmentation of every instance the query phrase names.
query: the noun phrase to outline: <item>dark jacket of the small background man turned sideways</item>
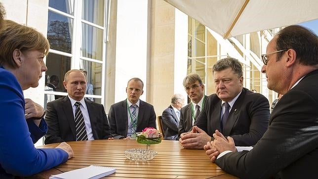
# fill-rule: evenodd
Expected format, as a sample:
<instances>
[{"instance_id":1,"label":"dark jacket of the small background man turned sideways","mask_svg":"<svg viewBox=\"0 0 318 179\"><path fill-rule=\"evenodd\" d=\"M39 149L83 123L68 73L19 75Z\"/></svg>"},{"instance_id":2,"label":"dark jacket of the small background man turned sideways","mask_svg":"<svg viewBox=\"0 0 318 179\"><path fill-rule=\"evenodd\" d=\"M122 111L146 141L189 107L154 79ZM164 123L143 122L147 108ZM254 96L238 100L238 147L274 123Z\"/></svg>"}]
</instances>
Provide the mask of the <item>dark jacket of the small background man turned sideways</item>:
<instances>
[{"instance_id":1,"label":"dark jacket of the small background man turned sideways","mask_svg":"<svg viewBox=\"0 0 318 179\"><path fill-rule=\"evenodd\" d=\"M179 120L173 107L170 105L162 112L162 128L165 140L177 140Z\"/></svg>"}]
</instances>

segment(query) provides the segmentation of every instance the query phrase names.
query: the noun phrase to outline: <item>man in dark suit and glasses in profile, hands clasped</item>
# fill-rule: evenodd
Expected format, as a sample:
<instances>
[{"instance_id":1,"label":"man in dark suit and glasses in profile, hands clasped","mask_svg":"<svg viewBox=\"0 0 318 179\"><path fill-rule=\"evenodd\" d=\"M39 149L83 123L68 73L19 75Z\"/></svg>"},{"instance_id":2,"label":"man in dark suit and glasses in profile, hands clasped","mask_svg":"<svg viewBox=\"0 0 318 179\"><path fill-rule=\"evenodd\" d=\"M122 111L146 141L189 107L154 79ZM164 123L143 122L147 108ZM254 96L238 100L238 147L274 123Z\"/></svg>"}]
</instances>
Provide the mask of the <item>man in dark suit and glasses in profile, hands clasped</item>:
<instances>
[{"instance_id":1,"label":"man in dark suit and glasses in profile, hands clasped","mask_svg":"<svg viewBox=\"0 0 318 179\"><path fill-rule=\"evenodd\" d=\"M262 55L267 87L283 95L268 130L253 149L241 152L232 137L216 131L204 146L211 161L244 179L317 179L317 57L316 34L296 25L282 29Z\"/></svg>"}]
</instances>

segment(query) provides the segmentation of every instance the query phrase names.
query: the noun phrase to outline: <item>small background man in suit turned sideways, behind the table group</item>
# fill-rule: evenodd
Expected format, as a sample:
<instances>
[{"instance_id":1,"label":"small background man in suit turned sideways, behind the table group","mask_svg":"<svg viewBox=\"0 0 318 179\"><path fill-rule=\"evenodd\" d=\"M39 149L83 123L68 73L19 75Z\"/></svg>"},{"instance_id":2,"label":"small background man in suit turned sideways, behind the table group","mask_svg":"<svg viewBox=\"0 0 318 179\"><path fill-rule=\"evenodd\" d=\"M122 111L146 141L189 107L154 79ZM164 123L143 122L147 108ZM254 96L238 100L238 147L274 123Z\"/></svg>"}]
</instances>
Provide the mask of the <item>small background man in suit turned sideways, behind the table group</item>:
<instances>
[{"instance_id":1,"label":"small background man in suit turned sideways, behind the table group","mask_svg":"<svg viewBox=\"0 0 318 179\"><path fill-rule=\"evenodd\" d=\"M162 112L162 128L165 140L177 140L180 120L180 109L184 105L181 94L173 94L171 104Z\"/></svg>"}]
</instances>

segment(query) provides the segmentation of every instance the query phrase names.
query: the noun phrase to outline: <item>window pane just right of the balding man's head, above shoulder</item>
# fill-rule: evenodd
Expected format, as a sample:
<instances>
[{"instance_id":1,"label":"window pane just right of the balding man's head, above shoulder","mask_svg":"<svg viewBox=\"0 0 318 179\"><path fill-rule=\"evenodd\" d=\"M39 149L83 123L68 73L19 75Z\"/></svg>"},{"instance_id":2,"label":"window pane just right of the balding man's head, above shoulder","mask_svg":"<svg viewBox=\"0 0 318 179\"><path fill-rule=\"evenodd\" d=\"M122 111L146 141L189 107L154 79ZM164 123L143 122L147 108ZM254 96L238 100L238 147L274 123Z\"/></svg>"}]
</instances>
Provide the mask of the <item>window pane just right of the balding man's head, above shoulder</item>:
<instances>
[{"instance_id":1,"label":"window pane just right of the balding man's head, above shoulder","mask_svg":"<svg viewBox=\"0 0 318 179\"><path fill-rule=\"evenodd\" d=\"M87 72L86 94L102 94L102 65L101 63L81 59L80 68Z\"/></svg>"}]
</instances>

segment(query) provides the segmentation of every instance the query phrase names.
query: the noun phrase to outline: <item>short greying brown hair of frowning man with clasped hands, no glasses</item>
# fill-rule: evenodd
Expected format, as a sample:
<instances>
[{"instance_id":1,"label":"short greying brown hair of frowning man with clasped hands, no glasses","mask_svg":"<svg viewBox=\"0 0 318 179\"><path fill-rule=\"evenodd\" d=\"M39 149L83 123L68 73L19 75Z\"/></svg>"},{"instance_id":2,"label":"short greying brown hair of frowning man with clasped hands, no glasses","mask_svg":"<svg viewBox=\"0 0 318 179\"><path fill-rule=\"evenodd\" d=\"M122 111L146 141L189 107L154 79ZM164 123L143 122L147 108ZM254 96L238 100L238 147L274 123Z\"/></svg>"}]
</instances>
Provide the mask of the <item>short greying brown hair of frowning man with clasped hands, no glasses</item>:
<instances>
[{"instance_id":1,"label":"short greying brown hair of frowning man with clasped hands, no glasses","mask_svg":"<svg viewBox=\"0 0 318 179\"><path fill-rule=\"evenodd\" d=\"M219 72L228 68L232 68L233 72L238 75L238 78L243 76L242 65L238 59L227 57L217 61L212 67L212 73Z\"/></svg>"}]
</instances>

